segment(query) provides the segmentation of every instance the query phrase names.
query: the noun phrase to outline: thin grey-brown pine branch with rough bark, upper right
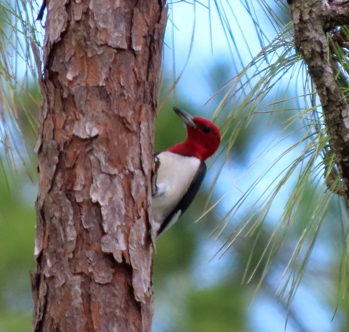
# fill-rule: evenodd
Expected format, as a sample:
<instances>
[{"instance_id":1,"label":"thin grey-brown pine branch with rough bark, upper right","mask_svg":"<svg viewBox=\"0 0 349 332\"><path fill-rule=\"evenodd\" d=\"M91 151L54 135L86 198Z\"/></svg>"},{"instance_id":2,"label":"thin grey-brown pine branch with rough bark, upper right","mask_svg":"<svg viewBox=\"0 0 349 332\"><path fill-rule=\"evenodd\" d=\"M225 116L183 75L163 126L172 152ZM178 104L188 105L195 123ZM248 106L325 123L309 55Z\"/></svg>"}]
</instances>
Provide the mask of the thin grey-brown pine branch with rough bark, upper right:
<instances>
[{"instance_id":1,"label":"thin grey-brown pine branch with rough bark, upper right","mask_svg":"<svg viewBox=\"0 0 349 332\"><path fill-rule=\"evenodd\" d=\"M329 62L326 31L349 24L347 0L288 0L294 25L295 47L308 65L320 97L326 126L335 150L345 197L349 197L349 108L336 84Z\"/></svg>"}]
</instances>

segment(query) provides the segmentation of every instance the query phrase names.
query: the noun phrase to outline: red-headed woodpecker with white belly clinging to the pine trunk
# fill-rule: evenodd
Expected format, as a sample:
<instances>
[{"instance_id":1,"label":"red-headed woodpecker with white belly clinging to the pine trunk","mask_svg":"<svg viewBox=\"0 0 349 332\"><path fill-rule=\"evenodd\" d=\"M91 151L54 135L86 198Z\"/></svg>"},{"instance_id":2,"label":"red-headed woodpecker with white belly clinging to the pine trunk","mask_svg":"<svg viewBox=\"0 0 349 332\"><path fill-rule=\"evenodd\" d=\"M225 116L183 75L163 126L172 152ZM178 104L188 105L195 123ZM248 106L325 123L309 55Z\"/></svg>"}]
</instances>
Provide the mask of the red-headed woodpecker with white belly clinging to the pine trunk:
<instances>
[{"instance_id":1,"label":"red-headed woodpecker with white belly clinging to the pine trunk","mask_svg":"<svg viewBox=\"0 0 349 332\"><path fill-rule=\"evenodd\" d=\"M211 121L173 109L186 125L187 139L155 157L151 207L157 235L172 226L191 204L206 174L205 160L221 141Z\"/></svg>"}]
</instances>

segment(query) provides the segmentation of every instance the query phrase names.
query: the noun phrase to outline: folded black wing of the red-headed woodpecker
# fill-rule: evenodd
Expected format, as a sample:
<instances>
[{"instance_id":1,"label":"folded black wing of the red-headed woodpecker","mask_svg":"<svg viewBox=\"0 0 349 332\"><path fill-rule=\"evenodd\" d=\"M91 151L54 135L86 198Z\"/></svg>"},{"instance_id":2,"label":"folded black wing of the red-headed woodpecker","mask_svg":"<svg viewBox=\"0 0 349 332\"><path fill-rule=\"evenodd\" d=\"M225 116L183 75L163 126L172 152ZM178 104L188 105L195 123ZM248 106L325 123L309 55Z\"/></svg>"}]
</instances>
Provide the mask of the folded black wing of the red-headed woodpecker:
<instances>
[{"instance_id":1,"label":"folded black wing of the red-headed woodpecker","mask_svg":"<svg viewBox=\"0 0 349 332\"><path fill-rule=\"evenodd\" d=\"M183 198L178 202L176 207L173 209L173 211L167 216L167 218L163 221L161 224L161 227L159 228L157 235L159 235L170 223L172 218L180 212L180 215L184 213L184 211L188 208L188 206L193 201L195 195L198 193L200 185L202 183L203 178L205 177L207 170L207 166L205 162L202 162L199 166L198 171L196 172L192 183L190 184L188 191L183 196Z\"/></svg>"}]
</instances>

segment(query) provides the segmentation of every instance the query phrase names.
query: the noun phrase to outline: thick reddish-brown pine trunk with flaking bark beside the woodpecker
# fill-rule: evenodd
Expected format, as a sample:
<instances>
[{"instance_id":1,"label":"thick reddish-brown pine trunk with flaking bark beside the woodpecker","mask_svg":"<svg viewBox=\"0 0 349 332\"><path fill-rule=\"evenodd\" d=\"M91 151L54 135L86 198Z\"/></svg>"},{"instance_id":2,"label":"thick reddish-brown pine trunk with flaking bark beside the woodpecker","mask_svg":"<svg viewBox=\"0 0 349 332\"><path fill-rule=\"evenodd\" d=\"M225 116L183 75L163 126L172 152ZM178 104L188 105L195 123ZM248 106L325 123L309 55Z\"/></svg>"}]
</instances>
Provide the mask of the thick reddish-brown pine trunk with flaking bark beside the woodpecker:
<instances>
[{"instance_id":1,"label":"thick reddish-brown pine trunk with flaking bark beside the woodpecker","mask_svg":"<svg viewBox=\"0 0 349 332\"><path fill-rule=\"evenodd\" d=\"M163 0L47 1L34 331L150 331Z\"/></svg>"}]
</instances>

